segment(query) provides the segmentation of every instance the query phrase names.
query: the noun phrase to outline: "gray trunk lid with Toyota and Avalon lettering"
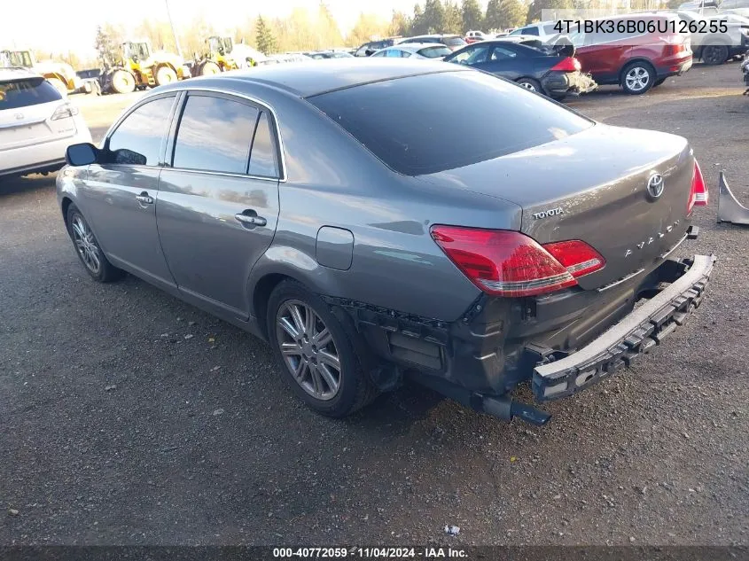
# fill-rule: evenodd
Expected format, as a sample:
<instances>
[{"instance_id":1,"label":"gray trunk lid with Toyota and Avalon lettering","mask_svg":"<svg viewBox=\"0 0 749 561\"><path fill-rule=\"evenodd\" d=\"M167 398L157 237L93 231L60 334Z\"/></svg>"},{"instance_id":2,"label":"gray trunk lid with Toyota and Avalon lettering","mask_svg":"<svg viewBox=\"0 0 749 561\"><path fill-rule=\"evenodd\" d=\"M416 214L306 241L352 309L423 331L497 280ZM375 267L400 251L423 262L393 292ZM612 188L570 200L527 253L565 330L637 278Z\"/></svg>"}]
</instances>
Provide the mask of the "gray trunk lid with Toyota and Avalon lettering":
<instances>
[{"instance_id":1,"label":"gray trunk lid with Toyota and Avalon lettering","mask_svg":"<svg viewBox=\"0 0 749 561\"><path fill-rule=\"evenodd\" d=\"M605 257L605 268L578 283L595 289L654 269L681 241L690 222L693 162L680 136L597 124L429 177L521 206L521 231L540 244L581 239L593 246ZM657 197L648 191L654 175L663 182Z\"/></svg>"}]
</instances>

